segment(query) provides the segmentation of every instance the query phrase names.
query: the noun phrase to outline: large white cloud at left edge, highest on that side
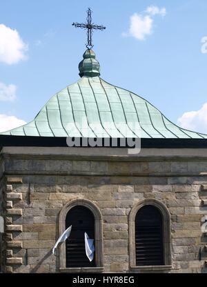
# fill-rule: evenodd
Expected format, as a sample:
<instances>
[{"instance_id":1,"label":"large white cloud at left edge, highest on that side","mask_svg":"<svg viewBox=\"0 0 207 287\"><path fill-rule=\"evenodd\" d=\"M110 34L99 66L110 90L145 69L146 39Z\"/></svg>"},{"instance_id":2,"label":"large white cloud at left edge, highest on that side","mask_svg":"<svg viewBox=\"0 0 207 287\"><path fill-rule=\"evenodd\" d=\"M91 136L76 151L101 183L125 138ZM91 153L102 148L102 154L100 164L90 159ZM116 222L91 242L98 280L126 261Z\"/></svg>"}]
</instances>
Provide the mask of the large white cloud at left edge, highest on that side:
<instances>
[{"instance_id":1,"label":"large white cloud at left edge, highest on that side","mask_svg":"<svg viewBox=\"0 0 207 287\"><path fill-rule=\"evenodd\" d=\"M23 42L17 30L0 24L0 62L9 65L26 59L28 46Z\"/></svg>"}]
</instances>

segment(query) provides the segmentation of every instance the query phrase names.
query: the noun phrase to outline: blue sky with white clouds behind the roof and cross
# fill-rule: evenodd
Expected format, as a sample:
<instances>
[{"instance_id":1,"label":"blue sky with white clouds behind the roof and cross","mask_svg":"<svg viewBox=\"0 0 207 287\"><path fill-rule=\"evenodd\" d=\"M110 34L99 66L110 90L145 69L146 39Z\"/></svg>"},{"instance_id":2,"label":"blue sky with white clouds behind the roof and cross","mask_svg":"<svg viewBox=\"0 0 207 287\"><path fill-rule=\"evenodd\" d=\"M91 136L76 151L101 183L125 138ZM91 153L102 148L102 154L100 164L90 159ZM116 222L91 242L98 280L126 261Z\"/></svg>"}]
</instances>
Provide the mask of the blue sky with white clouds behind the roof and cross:
<instances>
[{"instance_id":1,"label":"blue sky with white clouds behind the roof and cross","mask_svg":"<svg viewBox=\"0 0 207 287\"><path fill-rule=\"evenodd\" d=\"M207 132L206 0L1 0L0 129L31 121L55 92L79 79L86 32L72 22L86 21L88 7L93 21L106 26L93 36L101 77L184 128ZM5 42L10 33L2 31L10 28L16 38L11 33Z\"/></svg>"}]
</instances>

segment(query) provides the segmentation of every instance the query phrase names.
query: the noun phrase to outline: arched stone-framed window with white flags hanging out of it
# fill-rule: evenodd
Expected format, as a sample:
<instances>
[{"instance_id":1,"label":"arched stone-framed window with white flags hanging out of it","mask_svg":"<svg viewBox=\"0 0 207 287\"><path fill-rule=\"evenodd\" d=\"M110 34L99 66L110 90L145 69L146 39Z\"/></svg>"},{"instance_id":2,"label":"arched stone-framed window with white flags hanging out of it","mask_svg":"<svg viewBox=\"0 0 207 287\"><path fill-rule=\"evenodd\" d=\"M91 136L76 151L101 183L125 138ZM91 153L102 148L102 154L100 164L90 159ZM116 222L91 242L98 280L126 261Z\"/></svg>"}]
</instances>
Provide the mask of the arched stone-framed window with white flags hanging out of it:
<instances>
[{"instance_id":1,"label":"arched stone-framed window with white flags hanging out of it","mask_svg":"<svg viewBox=\"0 0 207 287\"><path fill-rule=\"evenodd\" d=\"M59 246L61 272L103 271L103 228L99 208L88 199L75 199L63 206L59 214L59 234L72 225L70 237ZM94 259L86 256L85 237L94 239Z\"/></svg>"}]
</instances>

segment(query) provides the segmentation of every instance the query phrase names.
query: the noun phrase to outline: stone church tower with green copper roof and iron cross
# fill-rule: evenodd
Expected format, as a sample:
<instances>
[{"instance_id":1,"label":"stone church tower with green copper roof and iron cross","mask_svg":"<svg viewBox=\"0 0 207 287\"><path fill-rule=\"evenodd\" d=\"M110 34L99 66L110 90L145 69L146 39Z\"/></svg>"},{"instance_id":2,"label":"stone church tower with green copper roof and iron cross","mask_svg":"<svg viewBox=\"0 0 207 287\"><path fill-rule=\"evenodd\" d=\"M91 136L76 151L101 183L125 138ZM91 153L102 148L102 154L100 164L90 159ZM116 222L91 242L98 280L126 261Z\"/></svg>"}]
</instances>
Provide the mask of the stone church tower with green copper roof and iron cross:
<instances>
[{"instance_id":1,"label":"stone church tower with green copper roof and iron cross","mask_svg":"<svg viewBox=\"0 0 207 287\"><path fill-rule=\"evenodd\" d=\"M73 25L80 79L0 134L1 273L206 273L207 135L102 79L105 27Z\"/></svg>"}]
</instances>

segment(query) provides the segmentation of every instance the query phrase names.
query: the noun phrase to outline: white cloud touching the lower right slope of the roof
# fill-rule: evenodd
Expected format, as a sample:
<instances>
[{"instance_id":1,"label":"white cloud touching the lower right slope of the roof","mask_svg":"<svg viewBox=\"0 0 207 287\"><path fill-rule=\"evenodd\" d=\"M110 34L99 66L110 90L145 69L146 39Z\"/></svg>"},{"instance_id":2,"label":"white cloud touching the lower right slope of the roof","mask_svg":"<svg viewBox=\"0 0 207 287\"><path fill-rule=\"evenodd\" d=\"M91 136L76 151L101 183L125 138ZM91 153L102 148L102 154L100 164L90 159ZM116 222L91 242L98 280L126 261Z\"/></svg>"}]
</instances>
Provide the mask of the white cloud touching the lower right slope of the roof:
<instances>
[{"instance_id":1,"label":"white cloud touching the lower right slope of the roof","mask_svg":"<svg viewBox=\"0 0 207 287\"><path fill-rule=\"evenodd\" d=\"M204 103L200 110L184 112L177 123L181 128L207 133L207 103Z\"/></svg>"}]
</instances>

